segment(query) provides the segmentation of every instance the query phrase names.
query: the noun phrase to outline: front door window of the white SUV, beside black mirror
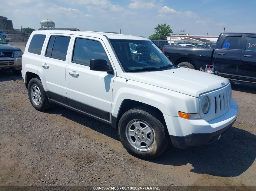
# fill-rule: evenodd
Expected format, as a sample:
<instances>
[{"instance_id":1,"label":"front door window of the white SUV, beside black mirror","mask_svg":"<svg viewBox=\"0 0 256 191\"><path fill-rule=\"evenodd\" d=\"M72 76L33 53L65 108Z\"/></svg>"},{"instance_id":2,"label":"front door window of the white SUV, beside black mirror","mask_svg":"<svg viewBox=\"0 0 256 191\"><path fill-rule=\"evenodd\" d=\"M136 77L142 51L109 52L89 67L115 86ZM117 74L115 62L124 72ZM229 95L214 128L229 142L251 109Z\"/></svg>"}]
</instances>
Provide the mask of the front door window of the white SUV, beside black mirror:
<instances>
[{"instance_id":1,"label":"front door window of the white SUV, beside black mirror","mask_svg":"<svg viewBox=\"0 0 256 191\"><path fill-rule=\"evenodd\" d=\"M109 64L108 57L100 42L76 38L72 62L90 66L91 59L105 59Z\"/></svg>"}]
</instances>

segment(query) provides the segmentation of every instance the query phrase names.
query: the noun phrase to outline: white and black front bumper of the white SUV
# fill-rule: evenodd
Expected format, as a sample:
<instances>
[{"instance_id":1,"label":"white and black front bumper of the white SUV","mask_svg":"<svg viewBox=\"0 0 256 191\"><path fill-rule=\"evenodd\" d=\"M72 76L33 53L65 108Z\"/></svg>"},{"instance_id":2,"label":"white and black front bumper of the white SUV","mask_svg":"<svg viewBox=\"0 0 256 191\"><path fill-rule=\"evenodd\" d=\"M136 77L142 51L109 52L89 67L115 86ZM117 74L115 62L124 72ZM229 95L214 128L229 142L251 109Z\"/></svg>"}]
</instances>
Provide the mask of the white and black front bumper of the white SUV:
<instances>
[{"instance_id":1,"label":"white and black front bumper of the white SUV","mask_svg":"<svg viewBox=\"0 0 256 191\"><path fill-rule=\"evenodd\" d=\"M166 115L164 117L173 146L188 148L217 141L231 128L237 115L238 105L232 99L227 113L208 122L204 119L188 120Z\"/></svg>"}]
</instances>

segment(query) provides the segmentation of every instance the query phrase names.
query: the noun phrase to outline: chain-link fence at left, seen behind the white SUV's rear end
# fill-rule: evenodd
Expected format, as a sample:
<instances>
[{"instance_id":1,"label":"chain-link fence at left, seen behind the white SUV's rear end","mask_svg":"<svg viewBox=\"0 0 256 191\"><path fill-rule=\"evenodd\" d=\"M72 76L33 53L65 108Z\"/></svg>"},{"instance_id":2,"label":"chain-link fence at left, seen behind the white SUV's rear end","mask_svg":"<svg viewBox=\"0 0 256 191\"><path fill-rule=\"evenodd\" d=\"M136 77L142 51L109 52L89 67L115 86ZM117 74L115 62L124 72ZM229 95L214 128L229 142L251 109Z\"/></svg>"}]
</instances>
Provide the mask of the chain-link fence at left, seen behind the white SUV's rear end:
<instances>
[{"instance_id":1,"label":"chain-link fence at left, seen behind the white SUV's rear end","mask_svg":"<svg viewBox=\"0 0 256 191\"><path fill-rule=\"evenodd\" d=\"M8 44L12 46L18 46L22 52L25 50L25 46L28 42L28 38L30 35L26 34L5 34L3 37L8 42Z\"/></svg>"}]
</instances>

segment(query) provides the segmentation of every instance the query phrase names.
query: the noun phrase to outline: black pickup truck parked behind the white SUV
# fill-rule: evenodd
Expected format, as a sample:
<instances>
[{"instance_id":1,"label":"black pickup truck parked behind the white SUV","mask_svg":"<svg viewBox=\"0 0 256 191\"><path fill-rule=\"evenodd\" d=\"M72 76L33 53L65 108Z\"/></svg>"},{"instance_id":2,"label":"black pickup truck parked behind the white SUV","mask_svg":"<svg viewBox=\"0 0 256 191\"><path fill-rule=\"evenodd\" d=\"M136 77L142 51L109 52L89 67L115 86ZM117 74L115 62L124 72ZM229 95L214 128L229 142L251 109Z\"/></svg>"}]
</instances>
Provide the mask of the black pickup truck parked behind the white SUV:
<instances>
[{"instance_id":1,"label":"black pickup truck parked behind the white SUV","mask_svg":"<svg viewBox=\"0 0 256 191\"><path fill-rule=\"evenodd\" d=\"M165 45L163 53L181 67L199 70L211 64L218 75L256 82L256 34L221 33L214 49Z\"/></svg>"}]
</instances>

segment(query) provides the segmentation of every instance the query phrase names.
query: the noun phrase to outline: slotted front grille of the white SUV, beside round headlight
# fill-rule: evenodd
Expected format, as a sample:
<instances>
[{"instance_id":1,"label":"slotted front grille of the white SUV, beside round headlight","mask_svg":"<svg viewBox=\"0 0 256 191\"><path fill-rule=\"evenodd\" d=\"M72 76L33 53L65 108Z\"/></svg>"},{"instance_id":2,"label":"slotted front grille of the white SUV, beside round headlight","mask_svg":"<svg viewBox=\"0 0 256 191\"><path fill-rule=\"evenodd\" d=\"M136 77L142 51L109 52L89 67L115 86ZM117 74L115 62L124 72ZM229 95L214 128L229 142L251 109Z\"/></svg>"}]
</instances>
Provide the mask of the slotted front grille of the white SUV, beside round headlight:
<instances>
[{"instance_id":1,"label":"slotted front grille of the white SUV, beside round headlight","mask_svg":"<svg viewBox=\"0 0 256 191\"><path fill-rule=\"evenodd\" d=\"M231 90L227 89L221 94L215 95L215 113L223 113L227 111L231 103Z\"/></svg>"}]
</instances>

